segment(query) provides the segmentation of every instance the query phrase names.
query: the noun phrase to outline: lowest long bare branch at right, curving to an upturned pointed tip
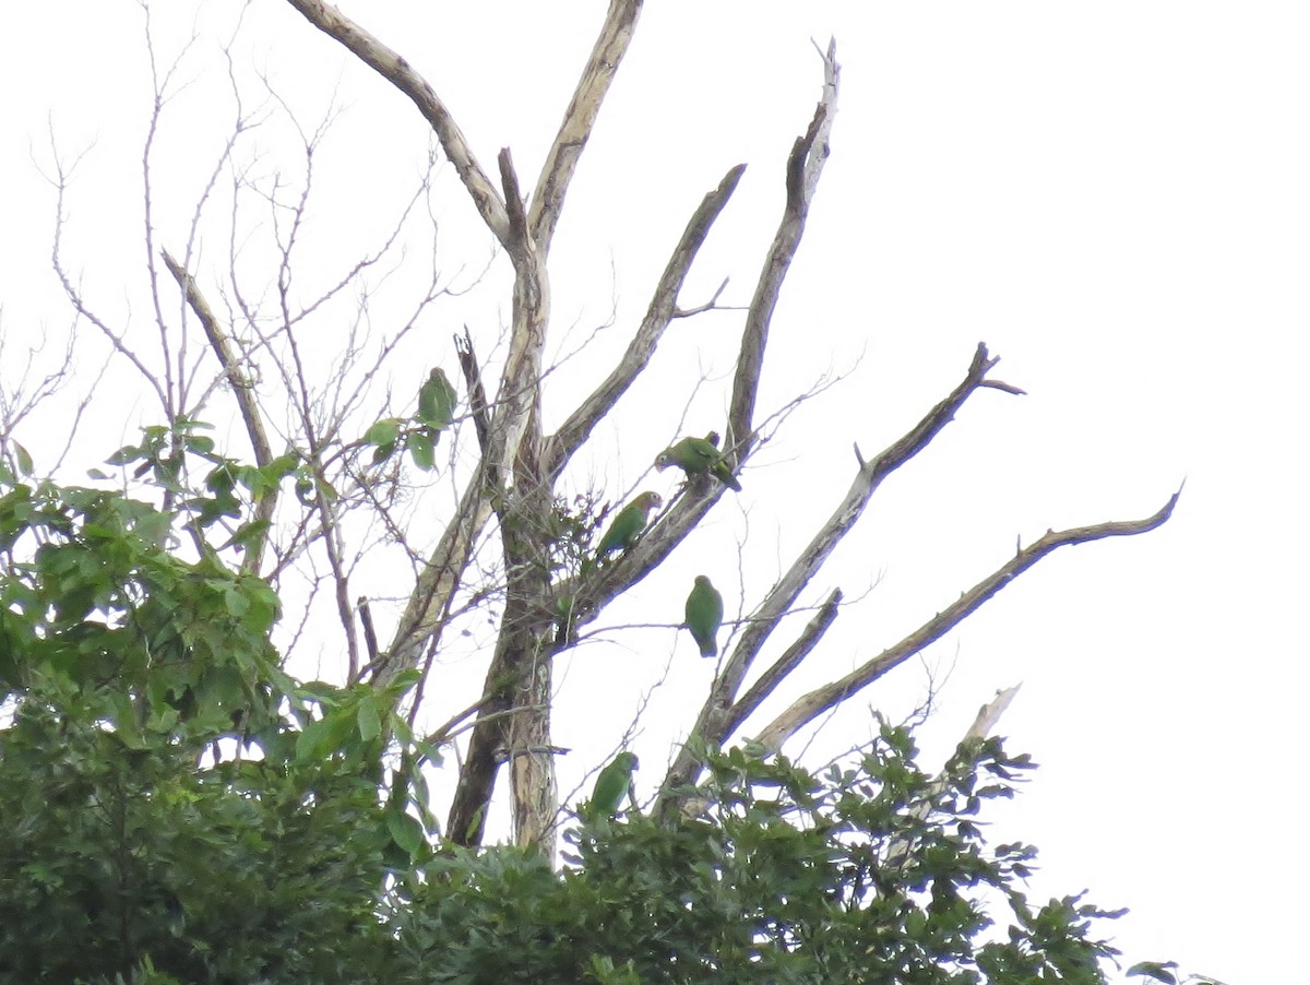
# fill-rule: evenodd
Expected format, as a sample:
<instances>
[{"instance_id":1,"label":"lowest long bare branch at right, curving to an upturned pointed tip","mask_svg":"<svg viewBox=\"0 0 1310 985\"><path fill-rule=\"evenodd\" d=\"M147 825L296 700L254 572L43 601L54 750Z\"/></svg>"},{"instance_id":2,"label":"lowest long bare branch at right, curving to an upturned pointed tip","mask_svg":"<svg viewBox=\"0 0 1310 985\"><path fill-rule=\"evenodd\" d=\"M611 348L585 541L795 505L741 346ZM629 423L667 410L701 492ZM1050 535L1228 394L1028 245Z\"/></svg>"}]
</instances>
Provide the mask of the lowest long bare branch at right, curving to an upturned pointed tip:
<instances>
[{"instance_id":1,"label":"lowest long bare branch at right, curving to an upturned pointed tip","mask_svg":"<svg viewBox=\"0 0 1310 985\"><path fill-rule=\"evenodd\" d=\"M812 722L817 715L841 703L862 688L869 686L897 664L905 661L924 647L946 633L955 629L967 616L973 613L988 599L1005 588L1010 582L1022 575L1041 558L1051 554L1057 548L1073 544L1087 544L1103 537L1132 537L1138 533L1154 530L1169 520L1174 512L1174 506L1182 490L1169 498L1158 511L1142 520L1121 520L1095 524L1093 527L1078 527L1058 533L1049 530L1035 544L1028 545L1013 557L1007 563L993 571L979 582L973 588L964 592L955 603L925 622L895 646L884 650L872 660L855 668L845 677L816 688L808 694L793 702L791 707L778 715L758 735L758 741L770 749L778 749L799 728Z\"/></svg>"}]
</instances>

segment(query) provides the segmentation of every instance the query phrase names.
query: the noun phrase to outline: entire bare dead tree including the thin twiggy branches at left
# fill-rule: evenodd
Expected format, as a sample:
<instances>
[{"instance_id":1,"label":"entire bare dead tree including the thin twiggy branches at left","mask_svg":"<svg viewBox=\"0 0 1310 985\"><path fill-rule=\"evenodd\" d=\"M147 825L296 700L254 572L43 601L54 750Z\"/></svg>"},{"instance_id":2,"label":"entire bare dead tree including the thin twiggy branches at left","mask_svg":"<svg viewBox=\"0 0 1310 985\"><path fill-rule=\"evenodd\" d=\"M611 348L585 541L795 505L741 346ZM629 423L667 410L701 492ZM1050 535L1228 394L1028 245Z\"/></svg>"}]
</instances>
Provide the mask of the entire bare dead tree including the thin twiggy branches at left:
<instances>
[{"instance_id":1,"label":"entire bare dead tree including the thin twiggy branches at left","mask_svg":"<svg viewBox=\"0 0 1310 985\"><path fill-rule=\"evenodd\" d=\"M331 113L325 115L318 128L308 132L297 130L303 144L304 178L300 186L291 187L280 179L261 183L250 165L237 160L237 149L244 136L282 103L272 86L267 86L259 105L248 107L240 98L238 86L233 85L236 115L232 139L220 152L214 177L196 206L186 251L174 257L155 245L148 251L156 301L160 296L155 278L159 259L172 275L181 301L177 318L169 318L162 305L156 304L155 320L164 339L161 360L149 363L128 346L126 329L114 326L111 320L92 309L76 280L66 272L58 241L56 270L73 308L151 381L169 420L194 415L216 394L231 394L258 465L267 466L276 460L279 441L290 449L288 455L301 462L300 504L283 502L286 498L279 499L276 489L263 490L253 503L253 519L266 525L269 533L248 549L242 565L248 571L278 576L313 554L320 566L309 576L310 592L321 589L334 610L346 652L346 676L351 682L367 680L385 688L396 681L397 675L418 669L426 684L438 673L436 656L449 643L452 626L495 600L499 606L495 642L490 647L481 694L432 735L435 741L451 741L455 735L468 734L445 834L461 845L483 841L496 779L500 768L508 764L514 838L516 844L538 846L549 853L555 845L561 813L555 781L559 749L553 739L552 723L554 659L574 646L579 630L592 623L613 600L669 558L723 492L718 483L688 482L635 546L600 566L579 563L579 557L586 557L587 538L576 528L579 524L586 527L586 520L595 517L571 516L561 506L565 500L561 478L569 462L591 440L597 424L607 419L647 369L669 325L676 318L714 307L718 293L709 304L688 308L680 308L679 296L745 165L728 169L718 186L707 191L692 211L626 351L563 423L553 434L545 434L541 406L542 388L549 379L544 352L552 329L550 246L578 162L637 29L641 0L610 0L531 194L525 194L507 148L499 152L494 172L483 168L449 107L402 52L321 0L287 3L308 24L413 102L512 270L510 325L495 354L489 358L486 351L477 351L468 329L455 341L460 376L468 394L466 414L460 422L472 423L477 440L476 447L470 447L470 443L460 441L460 435L466 432L453 428L452 469L448 474L452 477L455 504L443 517L444 525L434 534L434 542L419 549L418 540L407 536L406 496L414 489L406 485L396 461L376 466L360 464L359 456L371 449L368 443L358 439L358 431L351 431L359 419L400 418L396 405L405 398L393 400L388 388L379 400L371 388L380 380L388 360L400 351L419 314L447 289L434 271L414 301L407 324L369 341L367 275L381 269L393 255L401 229L427 199L427 178L421 182L392 233L372 253L341 271L337 279L328 279L326 286L320 284L305 293L297 280L295 261L313 189L314 155L322 144ZM751 458L770 431L769 420L761 423L756 417L769 330L829 155L840 67L834 45L829 43L819 54L823 65L820 98L785 161L782 215L756 278L738 344L722 444L724 460L734 470ZM172 69L156 72L155 77L156 110L151 119L151 135L159 123L159 114L168 105ZM148 140L147 170L149 147ZM206 211L212 211L220 174L231 177L227 200L233 203L233 212L237 203L252 200L262 200L269 210L278 269L271 297L257 296L244 287L248 279L242 274L244 257L237 245L240 237L234 220L231 223L227 276L207 286L200 274L196 231ZM60 191L66 186L62 170L56 183ZM149 181L147 187L151 187ZM360 300L346 355L334 363L326 376L316 376L321 371L310 365L310 343L307 341L309 320L329 305L339 304L351 291ZM186 326L191 318L199 322L203 356L190 354L172 334L176 329L182 333L177 338L187 338ZM841 591L833 589L781 655L766 667L760 667L765 646L785 618L800 608L802 595L841 540L858 524L882 482L927 448L980 390L1009 396L1023 393L1018 386L992 376L997 362L985 344L979 344L959 385L929 409L901 439L867 461L855 448L849 491L834 504L832 515L816 525L810 544L747 614L743 631L689 726L681 753L664 778L659 811L673 813L679 809L683 791L700 770L697 751L705 745L751 735L769 748L782 749L806 726L942 638L1057 548L1142 533L1169 519L1178 494L1154 515L1141 520L1051 532L1020 548L1007 563L985 575L903 641L844 677L796 697L772 722L756 722L756 713L764 701L791 678L840 617ZM261 396L259 381L265 379L278 384L284 402L280 409L271 410L270 398ZM854 437L858 439L858 435ZM456 475L458 479L453 478ZM570 523L574 524L571 532ZM359 585L352 584L358 565L368 545L375 542L398 545L413 566L413 580L405 585L400 600L402 612L394 620L394 631L385 646L379 637L379 629L385 622L377 595L360 592ZM369 601L365 603L365 597ZM385 633L385 629L381 631ZM975 732L981 728L985 734L1003 702L994 707L994 714L980 719Z\"/></svg>"}]
</instances>

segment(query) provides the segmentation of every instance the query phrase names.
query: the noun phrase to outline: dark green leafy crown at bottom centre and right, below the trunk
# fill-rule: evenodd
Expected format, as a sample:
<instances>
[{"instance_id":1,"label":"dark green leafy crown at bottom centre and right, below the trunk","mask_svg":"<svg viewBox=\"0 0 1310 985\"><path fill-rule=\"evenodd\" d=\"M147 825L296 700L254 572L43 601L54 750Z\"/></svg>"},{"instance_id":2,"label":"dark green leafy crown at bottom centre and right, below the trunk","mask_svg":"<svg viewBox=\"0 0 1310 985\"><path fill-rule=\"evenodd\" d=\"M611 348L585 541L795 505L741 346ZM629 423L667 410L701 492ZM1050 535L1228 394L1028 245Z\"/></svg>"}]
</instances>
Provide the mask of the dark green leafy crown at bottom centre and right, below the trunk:
<instances>
[{"instance_id":1,"label":"dark green leafy crown at bottom centre and right, below the trunk","mask_svg":"<svg viewBox=\"0 0 1310 985\"><path fill-rule=\"evenodd\" d=\"M600 819L562 874L508 849L439 855L398 893L400 946L448 982L1106 981L1116 952L1091 930L1119 914L1030 905L1032 849L989 850L972 820L1027 760L989 741L934 779L913 756L893 728L823 778L711 752L686 791L701 816Z\"/></svg>"}]
</instances>

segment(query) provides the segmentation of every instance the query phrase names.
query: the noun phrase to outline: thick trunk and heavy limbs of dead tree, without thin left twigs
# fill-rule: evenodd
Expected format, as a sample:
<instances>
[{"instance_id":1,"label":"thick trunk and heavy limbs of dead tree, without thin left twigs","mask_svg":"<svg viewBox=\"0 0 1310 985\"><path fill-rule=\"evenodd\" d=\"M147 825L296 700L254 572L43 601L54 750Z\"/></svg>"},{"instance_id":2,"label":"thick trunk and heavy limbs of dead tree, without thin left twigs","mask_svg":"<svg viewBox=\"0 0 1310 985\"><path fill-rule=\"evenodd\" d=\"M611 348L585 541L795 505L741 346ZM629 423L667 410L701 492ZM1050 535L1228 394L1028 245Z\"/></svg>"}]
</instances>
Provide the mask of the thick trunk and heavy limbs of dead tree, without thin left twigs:
<instances>
[{"instance_id":1,"label":"thick trunk and heavy limbs of dead tree, without thin left twigs","mask_svg":"<svg viewBox=\"0 0 1310 985\"><path fill-rule=\"evenodd\" d=\"M576 161L586 148L601 101L633 37L641 4L635 0L610 3L591 58L537 178L531 210L527 210L508 151L502 151L499 157L498 194L495 182L478 165L449 110L402 55L326 4L316 0L288 3L415 103L441 141L447 157L456 165L487 228L504 246L514 265L511 355L496 388L496 406L490 422L490 437L485 441L479 481L470 485L461 502L458 523L447 529L431 558L427 576L411 596L410 609L392 643L392 654L393 669L414 665L421 648L440 637L441 613L448 610L447 600L460 584L461 572L470 557L473 536L494 512L502 530L508 578L506 610L486 678L486 703L479 711L479 723L473 730L469 753L458 778L448 833L462 844L481 841L496 770L500 762L510 761L515 838L519 844L549 847L553 845L552 819L557 808L550 741L550 665L552 658L561 648L558 639L563 638L563 644L567 646L567 634L561 637L555 633L553 613L557 612L559 600L565 599L569 600L576 625L593 620L608 601L641 580L672 553L713 507L717 490L690 491L630 555L593 579L576 576L552 584L546 561L550 550L546 538L550 532L532 517L544 516L549 511L554 483L565 464L647 365L676 312L679 289L690 263L732 194L741 169L732 169L692 216L624 359L554 435L545 436L541 434L538 389L541 350L549 318L545 258ZM756 283L741 337L726 443L727 458L734 466L745 461L757 440L753 414L769 326L828 156L828 138L838 92L834 46L829 46L823 56L823 96L810 126L796 139L787 160L782 220ZM854 527L882 479L922 451L976 390L990 388L1019 392L988 377L994 364L996 360L988 356L986 348L980 346L964 382L950 397L874 461L859 460L857 477L846 499L756 608L747 631L715 681L692 728L692 736L702 741L726 741L821 639L836 617L840 593L829 599L820 616L783 656L744 696L738 697L765 641L782 617L793 610L798 596L837 542ZM781 747L816 715L849 698L958 625L1003 584L1055 548L1151 529L1167 519L1172 503L1174 499L1157 515L1142 521L1102 524L1048 534L1019 551L1011 563L984 579L959 603L900 644L848 677L798 699L760 732L761 740ZM665 790L675 790L693 778L697 768L692 752L694 748L694 744L684 747L683 756L669 773Z\"/></svg>"}]
</instances>

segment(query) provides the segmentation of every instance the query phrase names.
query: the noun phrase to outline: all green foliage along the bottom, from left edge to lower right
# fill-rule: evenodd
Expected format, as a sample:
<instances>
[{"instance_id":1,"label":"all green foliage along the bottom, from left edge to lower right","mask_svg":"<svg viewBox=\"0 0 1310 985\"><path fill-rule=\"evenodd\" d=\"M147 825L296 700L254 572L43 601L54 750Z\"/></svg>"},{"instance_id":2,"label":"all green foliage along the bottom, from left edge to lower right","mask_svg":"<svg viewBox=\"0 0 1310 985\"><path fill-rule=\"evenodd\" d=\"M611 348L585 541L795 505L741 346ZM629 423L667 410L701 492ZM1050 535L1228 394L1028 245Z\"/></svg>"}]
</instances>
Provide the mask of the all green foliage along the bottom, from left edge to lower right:
<instances>
[{"instance_id":1,"label":"all green foliage along the bottom, from left edge to lower right","mask_svg":"<svg viewBox=\"0 0 1310 985\"><path fill-rule=\"evenodd\" d=\"M0 472L0 981L1106 980L1116 914L1030 904L1032 850L981 838L1030 768L994 741L937 777L891 727L821 777L706 751L681 809L572 828L562 871L434 850L413 677L287 677L202 500Z\"/></svg>"}]
</instances>

